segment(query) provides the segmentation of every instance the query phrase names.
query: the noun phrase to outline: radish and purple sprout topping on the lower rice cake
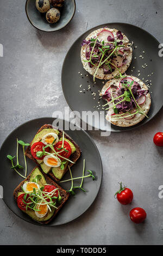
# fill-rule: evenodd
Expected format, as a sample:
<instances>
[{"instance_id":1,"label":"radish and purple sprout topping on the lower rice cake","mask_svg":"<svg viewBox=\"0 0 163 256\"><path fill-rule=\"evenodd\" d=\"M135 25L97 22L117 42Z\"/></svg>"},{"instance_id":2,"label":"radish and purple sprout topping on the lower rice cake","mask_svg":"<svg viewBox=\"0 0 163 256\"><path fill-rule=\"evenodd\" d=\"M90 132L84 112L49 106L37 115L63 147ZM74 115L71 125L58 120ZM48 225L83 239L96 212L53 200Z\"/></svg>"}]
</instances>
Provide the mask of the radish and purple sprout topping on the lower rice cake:
<instances>
[{"instance_id":1,"label":"radish and purple sprout topping on the lower rice cake","mask_svg":"<svg viewBox=\"0 0 163 256\"><path fill-rule=\"evenodd\" d=\"M133 119L135 114L146 113L141 105L146 101L146 95L149 90L142 89L140 84L131 77L123 78L118 86L112 84L103 94L103 99L107 101L104 105L109 105L108 116L112 120L117 119Z\"/></svg>"}]
</instances>

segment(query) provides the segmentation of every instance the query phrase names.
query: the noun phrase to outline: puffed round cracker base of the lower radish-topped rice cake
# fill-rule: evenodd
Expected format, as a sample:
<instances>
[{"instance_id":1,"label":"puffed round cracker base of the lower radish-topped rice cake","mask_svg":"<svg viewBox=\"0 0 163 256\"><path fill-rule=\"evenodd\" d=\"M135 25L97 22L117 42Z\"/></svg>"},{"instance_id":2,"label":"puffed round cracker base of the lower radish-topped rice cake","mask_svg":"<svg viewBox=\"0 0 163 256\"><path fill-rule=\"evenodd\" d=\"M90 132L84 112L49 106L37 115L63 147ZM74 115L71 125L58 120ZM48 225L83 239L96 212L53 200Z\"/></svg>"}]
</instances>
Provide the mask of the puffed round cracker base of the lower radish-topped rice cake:
<instances>
[{"instance_id":1,"label":"puffed round cracker base of the lower radish-topped rice cake","mask_svg":"<svg viewBox=\"0 0 163 256\"><path fill-rule=\"evenodd\" d=\"M133 78L133 80L135 82L140 84L142 89L148 90L146 84L143 83L139 78L134 77L134 76L127 76L127 77ZM115 86L119 86L121 80L122 80L122 78L118 78L118 79L112 79L112 80L106 82L99 95L100 96L104 95L106 89L108 89L112 84L114 84ZM151 107L151 96L149 93L147 93L147 95L146 95L146 101L142 105L140 105L140 107L143 109L143 112L145 112L145 114L148 113L148 111ZM124 118L116 119L116 118L111 118L110 115L106 114L105 118L111 124L121 126L121 127L128 127L128 126L133 126L133 125L140 123L140 121L142 121L145 118L145 115L137 113L137 114L135 114L135 117L133 119L124 119Z\"/></svg>"}]
</instances>

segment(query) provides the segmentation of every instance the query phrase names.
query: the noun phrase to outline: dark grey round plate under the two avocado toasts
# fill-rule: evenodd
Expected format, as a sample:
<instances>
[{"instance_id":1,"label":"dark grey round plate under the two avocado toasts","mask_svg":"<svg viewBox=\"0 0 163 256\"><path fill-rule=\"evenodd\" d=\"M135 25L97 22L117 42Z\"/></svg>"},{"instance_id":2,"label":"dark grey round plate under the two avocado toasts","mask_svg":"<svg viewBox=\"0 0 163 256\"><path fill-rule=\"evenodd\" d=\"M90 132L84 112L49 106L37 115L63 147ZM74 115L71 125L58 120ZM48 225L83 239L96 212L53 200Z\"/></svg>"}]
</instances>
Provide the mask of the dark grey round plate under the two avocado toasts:
<instances>
[{"instance_id":1,"label":"dark grey round plate under the two avocado toasts","mask_svg":"<svg viewBox=\"0 0 163 256\"><path fill-rule=\"evenodd\" d=\"M1 173L0 180L3 186L3 200L8 205L11 211L13 211L18 217L23 220L28 221L33 224L39 224L32 220L28 215L24 214L20 209L17 208L17 204L13 198L13 191L18 184L23 180L14 170L10 169L11 163L7 159L7 155L10 154L14 156L16 154L16 138L30 143L35 136L35 133L44 124L52 124L54 118L39 118L35 120L30 120L25 124L17 127L10 135L5 139L1 150ZM64 124L66 121L64 121ZM62 127L59 127L62 129ZM58 212L57 216L49 222L49 226L61 225L70 222L80 215L82 215L93 203L102 182L102 161L99 155L98 149L95 143L92 141L89 135L85 131L66 131L74 141L82 149L82 155L76 164L72 167L72 174L74 177L81 176L83 172L83 159L85 159L86 168L90 169L95 173L96 180L93 181L91 178L84 180L83 188L86 189L87 193L83 191L76 190L75 196L70 196L63 208ZM24 166L22 148L19 149L20 164ZM28 174L35 167L35 163L27 159ZM22 170L23 173L23 170ZM86 172L85 172L86 173ZM70 173L67 172L63 178L70 179ZM75 184L79 185L79 181ZM71 182L62 183L61 186L66 190L71 187Z\"/></svg>"}]
</instances>

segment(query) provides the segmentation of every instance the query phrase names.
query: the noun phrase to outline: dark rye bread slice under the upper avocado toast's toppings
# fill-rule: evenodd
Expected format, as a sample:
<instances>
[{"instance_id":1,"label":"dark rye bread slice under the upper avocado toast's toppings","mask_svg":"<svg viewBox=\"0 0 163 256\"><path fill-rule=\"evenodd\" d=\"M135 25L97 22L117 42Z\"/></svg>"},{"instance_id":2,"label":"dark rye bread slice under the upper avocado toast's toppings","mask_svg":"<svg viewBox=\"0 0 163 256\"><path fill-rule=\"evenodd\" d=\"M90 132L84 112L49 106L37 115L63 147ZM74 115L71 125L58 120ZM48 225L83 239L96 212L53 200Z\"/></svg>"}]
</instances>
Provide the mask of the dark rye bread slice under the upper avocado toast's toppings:
<instances>
[{"instance_id":1,"label":"dark rye bread slice under the upper avocado toast's toppings","mask_svg":"<svg viewBox=\"0 0 163 256\"><path fill-rule=\"evenodd\" d=\"M58 130L58 131L60 132L59 135L58 135L59 139L62 137L62 130L59 130L59 129L53 127L51 124L45 124L45 125L41 126L41 128L39 129L39 131L37 131L37 133L39 133L39 132L42 131L43 129L56 129L56 130ZM37 133L36 133L36 134L37 134ZM79 157L80 157L80 155L81 155L81 153L82 153L82 150L79 148L78 144L77 144L76 142L74 142L73 139L72 139L70 136L67 135L66 132L65 132L65 138L69 139L69 141L71 141L71 142L74 144L74 146L76 147L76 151L74 151L74 153L70 156L70 160L73 161L73 162L77 162L77 160L79 159ZM31 144L32 144L32 142L30 143L30 145L31 145ZM33 161L38 165L37 161L34 159L34 157L32 156L32 154L30 153L30 146L28 146L25 155L26 155L27 157L29 157L29 159L33 160ZM73 166L73 163L70 163L69 166L70 166L70 167ZM68 170L68 167L66 168L64 174L67 172L67 170ZM50 171L50 172L48 173L48 175L49 175L52 179L54 179L54 180L56 180L56 181L59 181L59 179L57 179L57 178L54 176L54 174L52 173L52 171Z\"/></svg>"}]
</instances>

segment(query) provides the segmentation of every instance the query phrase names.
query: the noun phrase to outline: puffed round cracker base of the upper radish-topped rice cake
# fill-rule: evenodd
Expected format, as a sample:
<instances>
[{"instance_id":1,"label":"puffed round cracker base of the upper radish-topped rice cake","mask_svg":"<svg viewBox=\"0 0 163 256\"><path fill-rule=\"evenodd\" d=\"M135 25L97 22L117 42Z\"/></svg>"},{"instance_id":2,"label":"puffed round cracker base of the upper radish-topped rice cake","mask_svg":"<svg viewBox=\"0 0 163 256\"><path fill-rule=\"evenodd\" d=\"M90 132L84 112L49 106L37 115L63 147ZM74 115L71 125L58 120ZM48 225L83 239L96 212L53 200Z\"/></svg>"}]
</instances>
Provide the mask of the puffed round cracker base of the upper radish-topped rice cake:
<instances>
[{"instance_id":1,"label":"puffed round cracker base of the upper radish-topped rice cake","mask_svg":"<svg viewBox=\"0 0 163 256\"><path fill-rule=\"evenodd\" d=\"M112 32L112 34L114 34L114 36L116 36L116 33L117 33L117 29L113 28L105 28L106 30ZM93 31L91 32L87 37L86 37L86 41L87 40L90 40L91 38L93 38L94 36L96 36L96 34L98 34L99 32L101 32L103 30L103 28L99 28L97 29L96 31ZM127 47L128 46L128 43L129 43L129 40L127 38L126 35L123 35L123 40L117 40L117 41L123 41L123 44ZM95 72L96 72L96 68L92 67L90 68L89 64L87 62L84 62L84 60L86 59L85 58L85 49L86 49L86 46L82 46L81 48L81 51L80 51L80 57L81 57L81 60L82 60L82 64L83 64L83 68L89 72L89 74L91 75L94 75ZM129 65L131 63L131 60L132 60L132 55L133 55L133 49L131 47L129 47L130 51L126 51L126 58L127 58L127 63L122 65L122 67L120 68L120 71L121 71L121 74L123 74L124 72L126 72L126 70L129 68ZM104 80L110 80L112 79L113 77L119 75L119 72L117 69L115 69L111 74L104 74L104 71L103 69L98 69L97 71L97 74L96 74L96 78L99 78L99 79L104 79Z\"/></svg>"}]
</instances>

